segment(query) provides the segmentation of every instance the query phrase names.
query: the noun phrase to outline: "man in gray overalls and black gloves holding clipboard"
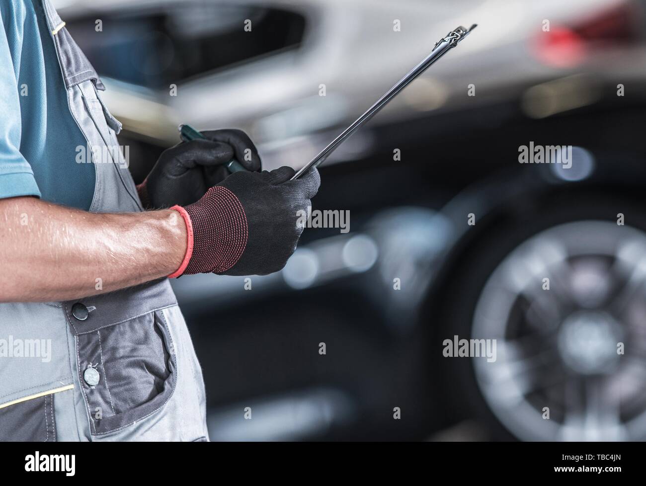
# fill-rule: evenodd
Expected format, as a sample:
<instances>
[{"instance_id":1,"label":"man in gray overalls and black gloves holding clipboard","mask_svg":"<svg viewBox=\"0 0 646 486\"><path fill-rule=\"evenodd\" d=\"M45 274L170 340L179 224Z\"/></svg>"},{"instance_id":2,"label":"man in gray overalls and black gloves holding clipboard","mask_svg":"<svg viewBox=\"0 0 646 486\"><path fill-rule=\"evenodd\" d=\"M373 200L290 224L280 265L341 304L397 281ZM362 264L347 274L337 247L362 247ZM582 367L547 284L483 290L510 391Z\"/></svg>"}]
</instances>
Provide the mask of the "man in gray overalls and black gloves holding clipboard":
<instances>
[{"instance_id":1,"label":"man in gray overalls and black gloves holding clipboard","mask_svg":"<svg viewBox=\"0 0 646 486\"><path fill-rule=\"evenodd\" d=\"M103 83L50 1L0 15L0 440L207 440L166 277L282 268L318 173L257 172L244 133L213 131L135 187ZM248 171L227 176L234 157Z\"/></svg>"}]
</instances>

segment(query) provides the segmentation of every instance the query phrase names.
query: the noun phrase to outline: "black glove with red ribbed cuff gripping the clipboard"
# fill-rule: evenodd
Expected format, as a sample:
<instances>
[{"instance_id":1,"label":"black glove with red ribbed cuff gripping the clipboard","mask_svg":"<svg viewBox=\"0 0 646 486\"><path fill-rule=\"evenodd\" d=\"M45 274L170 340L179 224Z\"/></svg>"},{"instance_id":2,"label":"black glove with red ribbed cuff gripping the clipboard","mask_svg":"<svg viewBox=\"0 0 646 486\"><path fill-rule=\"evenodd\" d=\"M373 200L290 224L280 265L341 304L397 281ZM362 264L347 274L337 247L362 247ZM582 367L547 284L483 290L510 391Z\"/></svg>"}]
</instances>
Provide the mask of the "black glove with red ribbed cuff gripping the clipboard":
<instances>
[{"instance_id":1,"label":"black glove with red ribbed cuff gripping the clipboard","mask_svg":"<svg viewBox=\"0 0 646 486\"><path fill-rule=\"evenodd\" d=\"M267 275L294 253L320 177L311 169L297 180L291 167L262 173L236 172L211 187L195 204L174 206L186 222L187 253L169 275L192 273Z\"/></svg>"}]
</instances>

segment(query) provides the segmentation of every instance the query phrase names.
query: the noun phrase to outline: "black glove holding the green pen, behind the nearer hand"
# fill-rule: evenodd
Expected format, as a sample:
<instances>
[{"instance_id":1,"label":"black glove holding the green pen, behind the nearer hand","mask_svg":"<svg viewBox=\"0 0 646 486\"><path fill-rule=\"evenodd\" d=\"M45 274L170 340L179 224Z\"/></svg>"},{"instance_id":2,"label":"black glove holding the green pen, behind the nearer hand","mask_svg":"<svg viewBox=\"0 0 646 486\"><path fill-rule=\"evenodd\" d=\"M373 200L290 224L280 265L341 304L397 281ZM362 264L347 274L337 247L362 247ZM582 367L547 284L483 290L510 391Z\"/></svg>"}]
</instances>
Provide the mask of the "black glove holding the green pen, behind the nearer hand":
<instances>
[{"instance_id":1,"label":"black glove holding the green pen, behind the nearer hand","mask_svg":"<svg viewBox=\"0 0 646 486\"><path fill-rule=\"evenodd\" d=\"M146 209L193 204L229 175L222 164L232 158L249 171L260 170L260 156L245 132L214 130L202 134L208 140L182 142L163 151L151 173L137 186Z\"/></svg>"}]
</instances>

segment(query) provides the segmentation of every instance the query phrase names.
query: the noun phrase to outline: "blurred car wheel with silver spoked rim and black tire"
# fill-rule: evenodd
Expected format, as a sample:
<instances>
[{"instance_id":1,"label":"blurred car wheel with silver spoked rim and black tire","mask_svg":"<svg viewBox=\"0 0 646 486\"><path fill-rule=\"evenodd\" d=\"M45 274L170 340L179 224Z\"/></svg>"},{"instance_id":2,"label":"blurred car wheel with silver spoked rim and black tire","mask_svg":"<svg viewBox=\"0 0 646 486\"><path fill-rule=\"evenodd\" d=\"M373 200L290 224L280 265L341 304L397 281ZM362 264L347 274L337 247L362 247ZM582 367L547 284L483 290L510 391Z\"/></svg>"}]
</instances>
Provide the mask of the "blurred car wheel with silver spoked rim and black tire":
<instances>
[{"instance_id":1,"label":"blurred car wheel with silver spoked rim and black tire","mask_svg":"<svg viewBox=\"0 0 646 486\"><path fill-rule=\"evenodd\" d=\"M495 341L495 361L436 361L447 411L490 439L646 438L643 209L570 202L485 231L446 286L436 343Z\"/></svg>"}]
</instances>

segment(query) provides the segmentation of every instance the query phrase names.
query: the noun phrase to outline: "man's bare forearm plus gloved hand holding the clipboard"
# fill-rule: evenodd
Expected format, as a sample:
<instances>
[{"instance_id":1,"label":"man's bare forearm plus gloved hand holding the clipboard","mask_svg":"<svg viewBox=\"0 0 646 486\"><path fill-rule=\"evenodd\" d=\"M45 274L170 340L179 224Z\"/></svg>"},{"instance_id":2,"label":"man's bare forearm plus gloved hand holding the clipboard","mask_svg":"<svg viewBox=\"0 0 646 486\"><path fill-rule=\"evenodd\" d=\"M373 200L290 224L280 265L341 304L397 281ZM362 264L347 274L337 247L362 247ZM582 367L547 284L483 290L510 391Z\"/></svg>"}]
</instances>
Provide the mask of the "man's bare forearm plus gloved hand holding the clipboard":
<instances>
[{"instance_id":1,"label":"man's bare forearm plus gloved hand holding the clipboard","mask_svg":"<svg viewBox=\"0 0 646 486\"><path fill-rule=\"evenodd\" d=\"M195 204L88 213L34 197L0 200L0 302L68 301L172 273L264 275L281 269L320 178L281 167L238 172Z\"/></svg>"}]
</instances>

